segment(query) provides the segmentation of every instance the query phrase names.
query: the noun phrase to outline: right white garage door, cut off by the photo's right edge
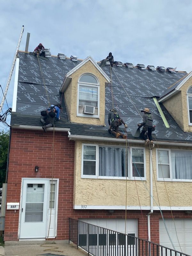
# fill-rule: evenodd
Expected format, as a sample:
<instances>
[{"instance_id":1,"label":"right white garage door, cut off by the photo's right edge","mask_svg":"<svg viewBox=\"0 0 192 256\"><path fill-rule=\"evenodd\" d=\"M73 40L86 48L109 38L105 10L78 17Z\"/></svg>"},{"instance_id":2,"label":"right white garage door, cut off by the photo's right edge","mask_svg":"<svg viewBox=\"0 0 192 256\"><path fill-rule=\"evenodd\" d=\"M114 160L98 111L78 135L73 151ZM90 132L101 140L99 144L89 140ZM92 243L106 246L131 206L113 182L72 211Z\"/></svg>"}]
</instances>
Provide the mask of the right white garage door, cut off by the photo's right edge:
<instances>
[{"instance_id":1,"label":"right white garage door, cut off by the photo's right edge","mask_svg":"<svg viewBox=\"0 0 192 256\"><path fill-rule=\"evenodd\" d=\"M192 220L174 219L173 221L172 219L165 219L165 224L174 244L175 250L179 252L182 251L183 253L190 255L192 252ZM175 231L175 227L177 233ZM173 249L163 220L159 220L159 240L160 245Z\"/></svg>"}]
</instances>

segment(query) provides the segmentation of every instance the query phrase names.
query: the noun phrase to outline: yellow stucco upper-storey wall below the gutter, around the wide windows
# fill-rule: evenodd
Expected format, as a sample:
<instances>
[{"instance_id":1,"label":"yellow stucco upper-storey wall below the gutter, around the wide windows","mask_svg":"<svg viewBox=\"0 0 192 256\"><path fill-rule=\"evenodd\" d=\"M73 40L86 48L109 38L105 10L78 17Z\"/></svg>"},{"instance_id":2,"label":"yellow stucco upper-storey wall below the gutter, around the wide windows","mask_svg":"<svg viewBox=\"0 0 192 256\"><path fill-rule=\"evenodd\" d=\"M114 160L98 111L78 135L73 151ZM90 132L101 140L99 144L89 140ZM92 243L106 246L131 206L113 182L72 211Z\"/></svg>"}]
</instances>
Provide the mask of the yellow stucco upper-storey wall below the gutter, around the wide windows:
<instances>
[{"instance_id":1,"label":"yellow stucco upper-storey wall below the gutter, around the wide windows","mask_svg":"<svg viewBox=\"0 0 192 256\"><path fill-rule=\"evenodd\" d=\"M128 206L150 206L150 172L149 172L149 150L146 148L146 180L109 180L109 179L82 179L81 178L81 151L82 143L86 141L76 141L75 143L75 173L74 173L74 205L107 205L124 206L126 200L127 183L127 205ZM98 144L92 142L92 144ZM100 144L100 143L99 143ZM102 143L102 145L111 145ZM115 144L116 146L124 146ZM141 147L140 145L129 145ZM159 147L161 148L161 147ZM166 148L166 147L164 147ZM169 147L171 148L171 147ZM172 147L176 149L175 147ZM191 150L191 148L177 148ZM153 161L153 205L160 206L191 206L192 186L191 182L157 181L156 172L156 149L152 150ZM155 180L154 180L155 179ZM137 190L136 190L137 186ZM139 199L138 199L138 195ZM140 203L139 203L140 201ZM170 202L170 204L169 204Z\"/></svg>"}]
</instances>

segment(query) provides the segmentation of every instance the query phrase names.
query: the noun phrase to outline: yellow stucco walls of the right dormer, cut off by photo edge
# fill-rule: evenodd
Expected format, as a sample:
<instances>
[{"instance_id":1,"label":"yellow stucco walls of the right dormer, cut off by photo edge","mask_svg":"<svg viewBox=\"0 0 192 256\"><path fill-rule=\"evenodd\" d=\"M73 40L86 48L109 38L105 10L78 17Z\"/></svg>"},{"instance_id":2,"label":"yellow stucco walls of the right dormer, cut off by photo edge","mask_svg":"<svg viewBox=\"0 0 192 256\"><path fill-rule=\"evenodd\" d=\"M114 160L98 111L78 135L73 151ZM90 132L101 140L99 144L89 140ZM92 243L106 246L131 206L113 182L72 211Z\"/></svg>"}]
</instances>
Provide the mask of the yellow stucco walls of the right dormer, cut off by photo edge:
<instances>
[{"instance_id":1,"label":"yellow stucco walls of the right dormer, cut off by photo edge","mask_svg":"<svg viewBox=\"0 0 192 256\"><path fill-rule=\"evenodd\" d=\"M183 84L180 92L163 102L165 108L173 116L184 132L192 132L192 126L188 124L187 91L192 85L192 77Z\"/></svg>"}]
</instances>

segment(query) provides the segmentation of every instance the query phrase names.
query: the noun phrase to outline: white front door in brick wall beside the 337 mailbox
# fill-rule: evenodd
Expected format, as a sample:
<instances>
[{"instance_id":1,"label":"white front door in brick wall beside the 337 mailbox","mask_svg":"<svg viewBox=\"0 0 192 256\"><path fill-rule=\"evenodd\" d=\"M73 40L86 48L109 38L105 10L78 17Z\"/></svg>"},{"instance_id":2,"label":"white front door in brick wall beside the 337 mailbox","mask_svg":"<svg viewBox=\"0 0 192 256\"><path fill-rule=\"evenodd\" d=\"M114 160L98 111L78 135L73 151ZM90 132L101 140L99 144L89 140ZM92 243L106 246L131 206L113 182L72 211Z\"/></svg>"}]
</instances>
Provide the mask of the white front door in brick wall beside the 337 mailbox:
<instances>
[{"instance_id":1,"label":"white front door in brick wall beside the 337 mailbox","mask_svg":"<svg viewBox=\"0 0 192 256\"><path fill-rule=\"evenodd\" d=\"M45 238L49 180L24 179L20 212L20 238Z\"/></svg>"}]
</instances>

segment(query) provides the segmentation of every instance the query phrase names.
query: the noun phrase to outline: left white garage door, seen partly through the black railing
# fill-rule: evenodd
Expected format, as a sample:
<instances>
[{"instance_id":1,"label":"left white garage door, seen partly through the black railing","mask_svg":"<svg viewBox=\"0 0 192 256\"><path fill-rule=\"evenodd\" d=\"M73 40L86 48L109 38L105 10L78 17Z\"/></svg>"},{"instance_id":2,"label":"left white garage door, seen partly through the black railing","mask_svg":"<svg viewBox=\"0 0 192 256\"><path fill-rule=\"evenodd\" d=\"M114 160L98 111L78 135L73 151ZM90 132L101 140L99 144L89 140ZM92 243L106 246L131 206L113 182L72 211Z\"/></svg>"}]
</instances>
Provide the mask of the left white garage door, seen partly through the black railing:
<instances>
[{"instance_id":1,"label":"left white garage door, seen partly through the black railing","mask_svg":"<svg viewBox=\"0 0 192 256\"><path fill-rule=\"evenodd\" d=\"M131 236L137 236L137 220L126 220L126 237L125 220L122 219L79 219L86 223L99 226L96 228L90 225L79 225L79 245L89 250L92 255L108 256L131 256L136 255L135 239ZM83 223L83 222L80 222ZM106 228L106 229L102 229ZM108 230L109 229L109 230ZM113 231L110 231L113 230ZM115 232L116 231L116 232Z\"/></svg>"}]
</instances>

